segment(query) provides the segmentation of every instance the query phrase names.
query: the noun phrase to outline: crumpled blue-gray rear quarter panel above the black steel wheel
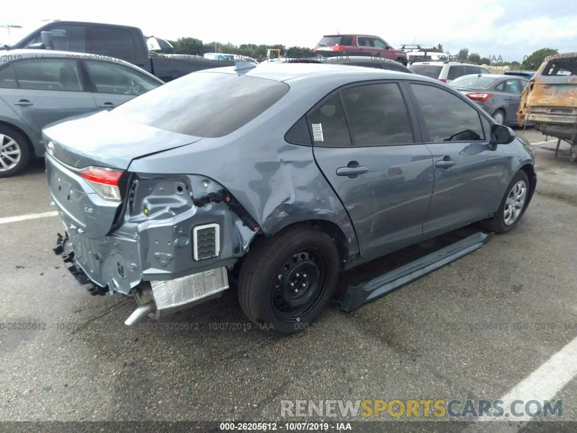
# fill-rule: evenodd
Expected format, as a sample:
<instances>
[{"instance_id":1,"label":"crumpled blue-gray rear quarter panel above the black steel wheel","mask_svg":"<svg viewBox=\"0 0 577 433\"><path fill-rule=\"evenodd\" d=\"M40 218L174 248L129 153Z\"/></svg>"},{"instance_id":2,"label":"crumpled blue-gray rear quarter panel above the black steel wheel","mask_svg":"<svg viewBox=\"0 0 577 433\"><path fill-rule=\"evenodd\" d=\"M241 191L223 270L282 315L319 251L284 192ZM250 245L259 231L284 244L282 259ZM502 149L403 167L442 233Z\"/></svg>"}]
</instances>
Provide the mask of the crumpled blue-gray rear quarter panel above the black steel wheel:
<instances>
[{"instance_id":1,"label":"crumpled blue-gray rear quarter panel above the black steel wheel","mask_svg":"<svg viewBox=\"0 0 577 433\"><path fill-rule=\"evenodd\" d=\"M297 87L293 81L289 84L291 89ZM284 141L287 130L332 88L321 80L307 80L298 92L289 91L271 109L230 135L203 138L136 159L129 170L188 173L216 181L232 193L265 234L308 219L333 222L342 230L349 255L353 255L359 251L353 225L317 167L312 147ZM151 244L151 248L157 247Z\"/></svg>"}]
</instances>

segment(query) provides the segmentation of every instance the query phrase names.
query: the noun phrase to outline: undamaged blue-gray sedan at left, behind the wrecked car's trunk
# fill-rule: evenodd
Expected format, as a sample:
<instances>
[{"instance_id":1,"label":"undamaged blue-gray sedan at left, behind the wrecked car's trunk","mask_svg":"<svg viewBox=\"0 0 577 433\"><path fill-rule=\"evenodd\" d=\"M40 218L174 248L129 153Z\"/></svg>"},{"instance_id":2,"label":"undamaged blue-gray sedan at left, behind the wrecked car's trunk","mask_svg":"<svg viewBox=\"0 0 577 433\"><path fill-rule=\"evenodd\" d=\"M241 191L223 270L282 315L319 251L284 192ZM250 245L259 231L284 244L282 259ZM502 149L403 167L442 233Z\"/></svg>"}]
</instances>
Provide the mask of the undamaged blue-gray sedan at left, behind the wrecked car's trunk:
<instances>
[{"instance_id":1,"label":"undamaged blue-gray sedan at left, behind the wrecked car's trunk","mask_svg":"<svg viewBox=\"0 0 577 433\"><path fill-rule=\"evenodd\" d=\"M44 156L42 128L117 106L164 82L128 62L53 50L0 55L0 177Z\"/></svg>"}]
</instances>

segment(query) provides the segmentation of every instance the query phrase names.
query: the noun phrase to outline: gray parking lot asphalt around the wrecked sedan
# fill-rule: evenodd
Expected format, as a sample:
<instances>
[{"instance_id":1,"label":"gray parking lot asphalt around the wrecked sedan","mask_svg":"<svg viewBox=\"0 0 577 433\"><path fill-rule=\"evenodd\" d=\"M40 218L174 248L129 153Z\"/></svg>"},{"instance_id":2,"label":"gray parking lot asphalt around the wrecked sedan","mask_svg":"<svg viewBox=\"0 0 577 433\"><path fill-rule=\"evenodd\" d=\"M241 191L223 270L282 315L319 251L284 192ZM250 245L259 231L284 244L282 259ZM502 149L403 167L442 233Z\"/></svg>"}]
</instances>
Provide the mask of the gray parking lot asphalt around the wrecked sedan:
<instances>
[{"instance_id":1,"label":"gray parking lot asphalt around the wrecked sedan","mask_svg":"<svg viewBox=\"0 0 577 433\"><path fill-rule=\"evenodd\" d=\"M577 337L577 167L547 147L535 146L537 192L514 232L354 312L332 305L291 337L250 325L232 290L126 327L132 299L89 296L51 252L57 217L1 223L0 420L271 421L286 420L281 400L498 400ZM42 162L0 180L0 222L51 211ZM577 421L575 378L550 397Z\"/></svg>"}]
</instances>

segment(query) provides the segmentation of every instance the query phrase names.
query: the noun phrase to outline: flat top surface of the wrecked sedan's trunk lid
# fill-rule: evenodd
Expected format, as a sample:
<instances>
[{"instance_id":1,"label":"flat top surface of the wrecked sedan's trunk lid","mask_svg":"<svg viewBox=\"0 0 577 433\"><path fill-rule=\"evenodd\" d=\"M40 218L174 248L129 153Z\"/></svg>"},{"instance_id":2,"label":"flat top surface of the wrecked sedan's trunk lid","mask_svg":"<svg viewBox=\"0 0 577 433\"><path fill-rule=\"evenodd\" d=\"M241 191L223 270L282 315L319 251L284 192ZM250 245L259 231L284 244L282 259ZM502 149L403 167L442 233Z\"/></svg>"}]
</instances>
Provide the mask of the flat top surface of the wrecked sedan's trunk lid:
<instances>
[{"instance_id":1,"label":"flat top surface of the wrecked sedan's trunk lid","mask_svg":"<svg viewBox=\"0 0 577 433\"><path fill-rule=\"evenodd\" d=\"M99 111L47 125L44 142L51 156L74 168L88 166L126 170L133 159L194 143L201 139Z\"/></svg>"}]
</instances>

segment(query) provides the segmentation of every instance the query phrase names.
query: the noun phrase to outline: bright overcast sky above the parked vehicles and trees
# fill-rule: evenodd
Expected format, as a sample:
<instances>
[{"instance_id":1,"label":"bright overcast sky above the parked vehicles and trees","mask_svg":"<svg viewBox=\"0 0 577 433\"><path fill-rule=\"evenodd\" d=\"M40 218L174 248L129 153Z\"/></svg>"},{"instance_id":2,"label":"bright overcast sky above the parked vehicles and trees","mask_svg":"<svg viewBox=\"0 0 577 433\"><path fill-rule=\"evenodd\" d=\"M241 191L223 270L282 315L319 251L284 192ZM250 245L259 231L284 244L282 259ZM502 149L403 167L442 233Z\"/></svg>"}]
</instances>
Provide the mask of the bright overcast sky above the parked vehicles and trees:
<instances>
[{"instance_id":1,"label":"bright overcast sky above the parked vehicles and trees","mask_svg":"<svg viewBox=\"0 0 577 433\"><path fill-rule=\"evenodd\" d=\"M313 47L323 35L351 32L380 36L395 47L414 40L426 46L441 43L451 54L467 47L469 53L504 61L521 61L545 47L577 51L577 0L365 0L362 6L315 0L2 2L0 25L27 27L47 18L134 25L145 35L165 39L188 36L237 45ZM3 42L6 29L0 31Z\"/></svg>"}]
</instances>

